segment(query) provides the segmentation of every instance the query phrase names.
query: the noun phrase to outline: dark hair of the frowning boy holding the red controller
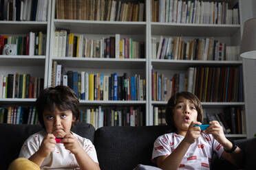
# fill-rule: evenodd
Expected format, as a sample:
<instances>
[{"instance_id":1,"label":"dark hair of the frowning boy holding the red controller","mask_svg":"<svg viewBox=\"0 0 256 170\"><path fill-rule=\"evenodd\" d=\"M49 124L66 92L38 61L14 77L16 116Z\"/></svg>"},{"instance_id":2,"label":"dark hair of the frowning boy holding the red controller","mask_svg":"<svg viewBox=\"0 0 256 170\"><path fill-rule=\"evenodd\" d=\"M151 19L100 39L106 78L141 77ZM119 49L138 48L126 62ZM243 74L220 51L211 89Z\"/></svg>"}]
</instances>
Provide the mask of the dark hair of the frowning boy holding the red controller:
<instances>
[{"instance_id":1,"label":"dark hair of the frowning boy holding the red controller","mask_svg":"<svg viewBox=\"0 0 256 170\"><path fill-rule=\"evenodd\" d=\"M55 108L58 110L71 110L73 118L78 120L79 117L79 100L76 93L68 86L56 86L45 88L41 91L39 97L36 99L36 111L38 113L39 123L45 128L43 123L43 112L48 110L54 112ZM74 124L72 123L72 127Z\"/></svg>"}]
</instances>

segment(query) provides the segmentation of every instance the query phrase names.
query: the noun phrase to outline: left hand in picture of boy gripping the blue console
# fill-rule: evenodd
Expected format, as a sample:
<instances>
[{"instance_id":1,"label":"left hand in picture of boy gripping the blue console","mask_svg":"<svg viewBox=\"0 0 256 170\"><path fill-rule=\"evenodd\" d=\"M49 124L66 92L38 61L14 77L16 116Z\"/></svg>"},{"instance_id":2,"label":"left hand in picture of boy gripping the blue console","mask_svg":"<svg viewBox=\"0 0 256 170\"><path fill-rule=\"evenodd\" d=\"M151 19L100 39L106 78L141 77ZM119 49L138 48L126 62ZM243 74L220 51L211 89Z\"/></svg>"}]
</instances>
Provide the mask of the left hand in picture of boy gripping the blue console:
<instances>
[{"instance_id":1,"label":"left hand in picture of boy gripping the blue console","mask_svg":"<svg viewBox=\"0 0 256 170\"><path fill-rule=\"evenodd\" d=\"M184 140L190 144L194 143L201 134L201 129L199 126L194 127L194 125L202 125L199 121L192 121L189 125L189 129L186 132Z\"/></svg>"}]
</instances>

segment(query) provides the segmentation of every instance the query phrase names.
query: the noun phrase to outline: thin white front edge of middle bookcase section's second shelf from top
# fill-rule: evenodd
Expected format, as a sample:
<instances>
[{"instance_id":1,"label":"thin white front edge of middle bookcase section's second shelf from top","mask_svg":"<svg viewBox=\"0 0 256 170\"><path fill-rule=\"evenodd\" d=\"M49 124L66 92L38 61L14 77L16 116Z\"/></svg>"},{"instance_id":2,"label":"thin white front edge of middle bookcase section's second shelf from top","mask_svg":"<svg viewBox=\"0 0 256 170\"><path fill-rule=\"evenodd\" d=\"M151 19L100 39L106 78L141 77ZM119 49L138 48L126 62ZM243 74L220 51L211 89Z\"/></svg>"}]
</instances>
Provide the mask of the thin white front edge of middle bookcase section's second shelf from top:
<instances>
[{"instance_id":1,"label":"thin white front edge of middle bookcase section's second shelf from top","mask_svg":"<svg viewBox=\"0 0 256 170\"><path fill-rule=\"evenodd\" d=\"M98 61L98 62L146 62L145 58L72 58L72 57L52 57L52 60L72 60L72 61Z\"/></svg>"}]
</instances>

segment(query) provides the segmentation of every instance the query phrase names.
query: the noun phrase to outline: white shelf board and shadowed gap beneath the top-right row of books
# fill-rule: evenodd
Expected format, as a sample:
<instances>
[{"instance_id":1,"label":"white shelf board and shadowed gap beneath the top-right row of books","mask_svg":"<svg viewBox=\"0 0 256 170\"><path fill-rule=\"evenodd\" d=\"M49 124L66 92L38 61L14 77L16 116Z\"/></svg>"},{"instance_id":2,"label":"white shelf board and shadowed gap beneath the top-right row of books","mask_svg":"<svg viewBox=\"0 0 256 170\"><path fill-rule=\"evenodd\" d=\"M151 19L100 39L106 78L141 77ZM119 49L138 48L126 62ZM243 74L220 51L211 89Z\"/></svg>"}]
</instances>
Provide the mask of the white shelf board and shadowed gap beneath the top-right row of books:
<instances>
[{"instance_id":1,"label":"white shelf board and shadowed gap beneath the top-right row of books","mask_svg":"<svg viewBox=\"0 0 256 170\"><path fill-rule=\"evenodd\" d=\"M167 36L233 36L240 25L193 24L193 23L151 23L153 35Z\"/></svg>"}]
</instances>

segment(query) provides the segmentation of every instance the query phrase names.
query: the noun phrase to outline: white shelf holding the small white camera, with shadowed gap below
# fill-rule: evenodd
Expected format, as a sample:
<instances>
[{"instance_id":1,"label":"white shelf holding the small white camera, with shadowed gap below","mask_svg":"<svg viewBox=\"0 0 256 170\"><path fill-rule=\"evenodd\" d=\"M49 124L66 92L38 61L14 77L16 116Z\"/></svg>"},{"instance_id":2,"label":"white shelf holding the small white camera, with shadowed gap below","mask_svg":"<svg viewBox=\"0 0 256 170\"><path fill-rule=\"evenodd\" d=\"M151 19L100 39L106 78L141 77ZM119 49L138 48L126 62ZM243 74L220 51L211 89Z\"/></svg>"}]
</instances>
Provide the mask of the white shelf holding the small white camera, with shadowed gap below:
<instances>
[{"instance_id":1,"label":"white shelf holding the small white camera, with shadowed gap below","mask_svg":"<svg viewBox=\"0 0 256 170\"><path fill-rule=\"evenodd\" d=\"M45 56L0 56L2 66L44 66Z\"/></svg>"}]
</instances>

